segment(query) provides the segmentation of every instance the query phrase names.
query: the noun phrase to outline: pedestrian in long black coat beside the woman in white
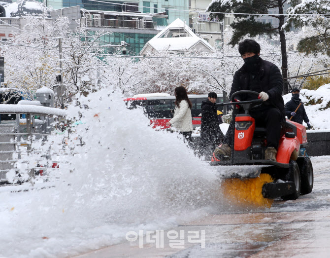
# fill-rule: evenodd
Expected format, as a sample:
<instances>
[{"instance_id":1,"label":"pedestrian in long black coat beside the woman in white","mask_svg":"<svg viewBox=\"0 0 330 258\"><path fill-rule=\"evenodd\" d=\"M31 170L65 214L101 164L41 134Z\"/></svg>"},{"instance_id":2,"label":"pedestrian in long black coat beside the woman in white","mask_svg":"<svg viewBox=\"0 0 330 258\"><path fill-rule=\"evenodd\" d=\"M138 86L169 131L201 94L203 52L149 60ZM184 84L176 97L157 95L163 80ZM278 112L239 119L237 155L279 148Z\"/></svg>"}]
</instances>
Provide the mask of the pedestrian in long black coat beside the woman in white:
<instances>
[{"instance_id":1,"label":"pedestrian in long black coat beside the woman in white","mask_svg":"<svg viewBox=\"0 0 330 258\"><path fill-rule=\"evenodd\" d=\"M217 94L210 92L208 100L201 103L200 146L201 154L211 157L215 147L224 140L224 134L219 127L218 112L215 106Z\"/></svg>"}]
</instances>

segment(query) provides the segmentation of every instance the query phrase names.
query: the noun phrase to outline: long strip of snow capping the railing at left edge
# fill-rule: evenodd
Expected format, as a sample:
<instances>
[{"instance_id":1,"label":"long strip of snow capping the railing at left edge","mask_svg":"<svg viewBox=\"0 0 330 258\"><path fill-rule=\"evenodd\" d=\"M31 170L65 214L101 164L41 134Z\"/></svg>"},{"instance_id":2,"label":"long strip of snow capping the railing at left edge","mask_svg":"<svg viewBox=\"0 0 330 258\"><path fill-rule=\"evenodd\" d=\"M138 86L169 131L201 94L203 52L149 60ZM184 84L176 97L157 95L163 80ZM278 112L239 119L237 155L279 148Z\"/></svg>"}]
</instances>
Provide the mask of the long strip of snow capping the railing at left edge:
<instances>
[{"instance_id":1,"label":"long strip of snow capping the railing at left edge","mask_svg":"<svg viewBox=\"0 0 330 258\"><path fill-rule=\"evenodd\" d=\"M58 116L66 116L65 110L41 107L41 106L33 106L33 105L14 105L14 104L0 104L0 113L1 114L39 114L39 115L58 115Z\"/></svg>"}]
</instances>

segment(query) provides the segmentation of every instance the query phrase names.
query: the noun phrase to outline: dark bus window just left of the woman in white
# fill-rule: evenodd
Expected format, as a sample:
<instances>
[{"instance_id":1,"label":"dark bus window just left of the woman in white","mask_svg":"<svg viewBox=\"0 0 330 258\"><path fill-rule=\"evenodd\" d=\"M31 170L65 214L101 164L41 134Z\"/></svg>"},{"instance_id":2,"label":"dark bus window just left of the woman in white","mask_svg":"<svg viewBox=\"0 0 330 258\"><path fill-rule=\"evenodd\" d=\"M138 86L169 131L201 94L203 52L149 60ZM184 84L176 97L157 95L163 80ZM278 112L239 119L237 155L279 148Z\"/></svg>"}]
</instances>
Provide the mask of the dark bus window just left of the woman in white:
<instances>
[{"instance_id":1,"label":"dark bus window just left of the woman in white","mask_svg":"<svg viewBox=\"0 0 330 258\"><path fill-rule=\"evenodd\" d=\"M172 100L149 100L147 101L147 114L149 118L170 118Z\"/></svg>"}]
</instances>

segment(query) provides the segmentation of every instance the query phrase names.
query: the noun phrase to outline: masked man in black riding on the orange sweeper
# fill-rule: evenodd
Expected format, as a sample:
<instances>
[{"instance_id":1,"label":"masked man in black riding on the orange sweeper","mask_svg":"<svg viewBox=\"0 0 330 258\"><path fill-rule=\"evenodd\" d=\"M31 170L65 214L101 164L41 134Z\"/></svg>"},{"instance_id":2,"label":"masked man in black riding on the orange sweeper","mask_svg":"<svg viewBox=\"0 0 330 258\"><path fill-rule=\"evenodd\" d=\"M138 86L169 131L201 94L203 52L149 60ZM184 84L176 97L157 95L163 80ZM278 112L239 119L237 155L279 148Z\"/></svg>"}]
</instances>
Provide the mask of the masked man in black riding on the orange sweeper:
<instances>
[{"instance_id":1,"label":"masked man in black riding on the orange sweeper","mask_svg":"<svg viewBox=\"0 0 330 258\"><path fill-rule=\"evenodd\" d=\"M260 55L260 45L253 39L245 39L238 45L238 51L244 60L244 65L234 74L231 95L240 90L256 91L263 103L252 109L250 115L255 119L256 126L266 128L266 149L264 159L276 161L276 153L280 140L281 122L285 121L284 101L282 98L283 79L276 65L263 60ZM235 101L255 99L253 95L238 95ZM239 108L238 113L244 113ZM231 156L231 138L234 128L230 125L225 140L214 151L216 157Z\"/></svg>"}]
</instances>

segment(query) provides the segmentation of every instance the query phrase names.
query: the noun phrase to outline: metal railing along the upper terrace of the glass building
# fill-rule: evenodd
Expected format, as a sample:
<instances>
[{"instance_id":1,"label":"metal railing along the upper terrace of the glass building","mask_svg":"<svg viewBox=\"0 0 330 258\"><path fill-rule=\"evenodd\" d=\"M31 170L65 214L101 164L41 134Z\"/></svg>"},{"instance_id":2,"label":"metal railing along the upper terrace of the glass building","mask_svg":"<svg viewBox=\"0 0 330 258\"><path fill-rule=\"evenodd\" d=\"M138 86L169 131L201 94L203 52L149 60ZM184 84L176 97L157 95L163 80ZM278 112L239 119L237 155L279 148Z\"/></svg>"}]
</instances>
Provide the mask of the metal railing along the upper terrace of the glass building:
<instances>
[{"instance_id":1,"label":"metal railing along the upper terrace of the glass building","mask_svg":"<svg viewBox=\"0 0 330 258\"><path fill-rule=\"evenodd\" d=\"M87 21L89 22L89 21ZM91 26L156 30L157 22L145 20L93 19Z\"/></svg>"}]
</instances>

